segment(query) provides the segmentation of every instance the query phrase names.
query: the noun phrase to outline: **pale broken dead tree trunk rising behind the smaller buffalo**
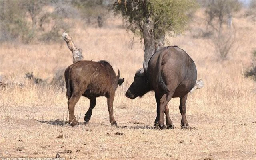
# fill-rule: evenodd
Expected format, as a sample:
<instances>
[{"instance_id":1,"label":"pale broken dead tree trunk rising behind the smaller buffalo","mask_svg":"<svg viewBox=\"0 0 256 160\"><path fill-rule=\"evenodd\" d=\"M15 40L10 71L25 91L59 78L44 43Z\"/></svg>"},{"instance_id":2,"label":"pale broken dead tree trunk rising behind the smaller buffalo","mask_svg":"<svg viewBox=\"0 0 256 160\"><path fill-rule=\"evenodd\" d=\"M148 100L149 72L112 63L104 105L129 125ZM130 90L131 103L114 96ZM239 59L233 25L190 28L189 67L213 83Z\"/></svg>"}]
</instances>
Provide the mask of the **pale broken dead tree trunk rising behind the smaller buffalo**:
<instances>
[{"instance_id":1,"label":"pale broken dead tree trunk rising behind the smaller buffalo","mask_svg":"<svg viewBox=\"0 0 256 160\"><path fill-rule=\"evenodd\" d=\"M82 49L76 47L72 37L70 37L68 33L65 33L65 32L62 33L62 37L64 41L67 43L68 48L73 54L73 63L76 63L79 60L83 60L84 57L82 56Z\"/></svg>"}]
</instances>

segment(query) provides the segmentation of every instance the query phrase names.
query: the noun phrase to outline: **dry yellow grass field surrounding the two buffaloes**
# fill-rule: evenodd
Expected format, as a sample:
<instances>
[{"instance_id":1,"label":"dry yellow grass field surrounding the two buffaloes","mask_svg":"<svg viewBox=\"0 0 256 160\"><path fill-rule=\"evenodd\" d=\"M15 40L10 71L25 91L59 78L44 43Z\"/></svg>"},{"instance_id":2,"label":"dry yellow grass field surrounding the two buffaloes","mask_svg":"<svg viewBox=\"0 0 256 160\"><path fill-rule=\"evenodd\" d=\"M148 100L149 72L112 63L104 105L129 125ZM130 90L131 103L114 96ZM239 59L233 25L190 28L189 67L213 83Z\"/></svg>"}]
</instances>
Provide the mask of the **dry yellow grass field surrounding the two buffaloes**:
<instances>
[{"instance_id":1,"label":"dry yellow grass field surrounding the two buffaloes","mask_svg":"<svg viewBox=\"0 0 256 160\"><path fill-rule=\"evenodd\" d=\"M64 41L0 44L2 80L24 84L23 88L14 85L0 90L0 157L55 157L59 153L60 157L78 160L256 159L256 123L252 123L256 121L256 86L243 76L256 48L256 23L242 15L234 17L237 41L223 62L208 39L193 39L189 31L167 37L169 45L178 45L192 57L198 79L205 84L190 94L186 103L186 117L195 130L180 130L179 99L169 103L175 129L160 131L152 129L156 117L153 92L135 100L125 97L144 58L140 39L131 43L133 35L120 27L120 19L108 18L101 29L76 23L69 32L83 49L84 60L107 60L125 78L114 100L114 117L120 127L108 123L105 97L97 98L89 124L82 124L89 100L80 98L75 115L81 124L74 128L63 125L68 119L65 90L36 86L24 78L25 73L33 71L50 82L58 69L72 64L72 54ZM203 12L197 16L203 17ZM199 27L203 21L195 19L190 25Z\"/></svg>"}]
</instances>

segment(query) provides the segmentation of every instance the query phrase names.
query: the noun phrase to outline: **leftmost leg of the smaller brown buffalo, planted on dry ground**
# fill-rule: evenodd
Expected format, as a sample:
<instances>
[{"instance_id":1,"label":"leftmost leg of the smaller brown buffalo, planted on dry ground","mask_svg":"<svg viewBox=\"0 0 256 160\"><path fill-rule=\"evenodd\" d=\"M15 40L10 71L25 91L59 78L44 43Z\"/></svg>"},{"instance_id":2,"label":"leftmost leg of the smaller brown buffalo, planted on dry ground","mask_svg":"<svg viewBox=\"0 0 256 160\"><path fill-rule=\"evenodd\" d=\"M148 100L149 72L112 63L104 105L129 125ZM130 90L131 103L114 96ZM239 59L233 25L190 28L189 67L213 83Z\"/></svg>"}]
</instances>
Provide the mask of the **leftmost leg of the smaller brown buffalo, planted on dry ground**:
<instances>
[{"instance_id":1,"label":"leftmost leg of the smaller brown buffalo, planted on dry ground","mask_svg":"<svg viewBox=\"0 0 256 160\"><path fill-rule=\"evenodd\" d=\"M68 99L68 113L69 113L69 123L71 123L71 126L74 127L77 125L76 117L75 117L75 105L78 102L80 98L79 94L72 94L72 96Z\"/></svg>"}]
</instances>

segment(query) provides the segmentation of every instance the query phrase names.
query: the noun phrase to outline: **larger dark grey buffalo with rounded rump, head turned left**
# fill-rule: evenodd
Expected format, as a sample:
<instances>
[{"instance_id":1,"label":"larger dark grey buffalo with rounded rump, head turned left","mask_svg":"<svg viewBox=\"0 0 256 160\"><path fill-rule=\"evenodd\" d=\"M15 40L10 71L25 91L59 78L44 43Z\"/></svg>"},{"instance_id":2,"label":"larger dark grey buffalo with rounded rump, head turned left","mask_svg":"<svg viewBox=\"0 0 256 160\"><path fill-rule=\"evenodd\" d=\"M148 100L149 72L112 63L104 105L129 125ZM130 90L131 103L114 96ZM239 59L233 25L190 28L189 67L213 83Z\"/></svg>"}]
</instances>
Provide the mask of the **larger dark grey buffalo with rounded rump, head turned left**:
<instances>
[{"instance_id":1,"label":"larger dark grey buffalo with rounded rump, head turned left","mask_svg":"<svg viewBox=\"0 0 256 160\"><path fill-rule=\"evenodd\" d=\"M126 92L126 97L134 99L153 90L157 103L155 126L164 129L164 113L168 129L174 125L169 117L168 102L180 98L181 127L188 128L186 100L188 92L196 83L196 65L190 56L178 46L163 47L150 60L143 63L134 77L134 82Z\"/></svg>"}]
</instances>

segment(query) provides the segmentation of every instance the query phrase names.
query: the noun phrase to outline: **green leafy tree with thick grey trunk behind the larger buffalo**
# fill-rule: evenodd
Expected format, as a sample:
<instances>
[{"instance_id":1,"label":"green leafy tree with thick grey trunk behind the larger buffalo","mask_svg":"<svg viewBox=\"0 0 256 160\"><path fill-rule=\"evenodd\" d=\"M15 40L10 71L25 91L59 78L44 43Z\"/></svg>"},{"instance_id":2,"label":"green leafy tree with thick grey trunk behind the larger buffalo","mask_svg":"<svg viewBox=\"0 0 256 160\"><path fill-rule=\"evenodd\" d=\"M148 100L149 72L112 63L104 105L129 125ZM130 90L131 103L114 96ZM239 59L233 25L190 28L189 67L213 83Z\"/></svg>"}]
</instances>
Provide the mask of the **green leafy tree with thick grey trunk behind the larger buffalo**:
<instances>
[{"instance_id":1,"label":"green leafy tree with thick grey trunk behind the larger buffalo","mask_svg":"<svg viewBox=\"0 0 256 160\"><path fill-rule=\"evenodd\" d=\"M114 12L127 20L127 29L144 39L144 60L164 46L166 33L183 33L190 14L195 11L194 0L117 0Z\"/></svg>"}]
</instances>

